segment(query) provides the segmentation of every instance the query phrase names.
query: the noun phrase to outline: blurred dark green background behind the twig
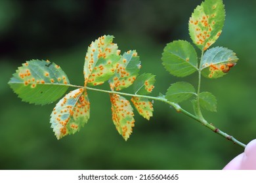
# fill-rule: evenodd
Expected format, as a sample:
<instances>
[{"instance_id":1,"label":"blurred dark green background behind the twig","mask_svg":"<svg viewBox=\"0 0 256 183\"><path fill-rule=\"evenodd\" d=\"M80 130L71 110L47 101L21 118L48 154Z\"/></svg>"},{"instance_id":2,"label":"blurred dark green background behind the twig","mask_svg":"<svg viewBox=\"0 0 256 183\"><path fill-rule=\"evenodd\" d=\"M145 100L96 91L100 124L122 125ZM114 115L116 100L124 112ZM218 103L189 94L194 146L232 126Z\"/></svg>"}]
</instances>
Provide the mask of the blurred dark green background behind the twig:
<instances>
[{"instance_id":1,"label":"blurred dark green background behind the twig","mask_svg":"<svg viewBox=\"0 0 256 183\"><path fill-rule=\"evenodd\" d=\"M202 80L202 91L218 99L218 112L205 118L238 140L256 137L256 1L225 1L226 22L214 46L234 50L240 61L228 75ZM104 34L119 49L136 49L140 73L156 75L152 95L197 75L175 78L161 65L164 46L191 42L188 19L201 1L0 1L0 169L222 169L243 152L164 103L154 103L148 122L135 112L135 127L125 142L112 122L107 94L89 91L91 118L75 135L57 141L49 124L56 103L23 103L7 82L22 63L49 59L72 84L83 85L87 46ZM104 84L103 88L108 88ZM182 107L192 112L190 103Z\"/></svg>"}]
</instances>

